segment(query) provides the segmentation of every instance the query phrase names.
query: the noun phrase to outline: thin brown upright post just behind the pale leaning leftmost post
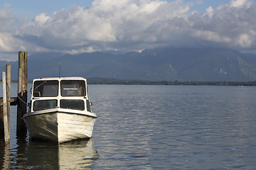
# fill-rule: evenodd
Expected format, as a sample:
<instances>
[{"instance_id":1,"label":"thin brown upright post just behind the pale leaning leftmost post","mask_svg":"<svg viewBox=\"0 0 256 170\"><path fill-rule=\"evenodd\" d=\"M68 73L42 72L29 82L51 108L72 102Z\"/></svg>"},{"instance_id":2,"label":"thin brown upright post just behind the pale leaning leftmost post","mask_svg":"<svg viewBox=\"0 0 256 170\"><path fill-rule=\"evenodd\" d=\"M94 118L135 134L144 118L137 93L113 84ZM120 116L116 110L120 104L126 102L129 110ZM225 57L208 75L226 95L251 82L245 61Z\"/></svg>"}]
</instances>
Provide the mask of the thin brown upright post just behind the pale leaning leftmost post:
<instances>
[{"instance_id":1,"label":"thin brown upright post just behind the pale leaning leftmost post","mask_svg":"<svg viewBox=\"0 0 256 170\"><path fill-rule=\"evenodd\" d=\"M11 120L11 65L6 65L6 100L7 100L7 118L8 118L8 132L10 133Z\"/></svg>"}]
</instances>

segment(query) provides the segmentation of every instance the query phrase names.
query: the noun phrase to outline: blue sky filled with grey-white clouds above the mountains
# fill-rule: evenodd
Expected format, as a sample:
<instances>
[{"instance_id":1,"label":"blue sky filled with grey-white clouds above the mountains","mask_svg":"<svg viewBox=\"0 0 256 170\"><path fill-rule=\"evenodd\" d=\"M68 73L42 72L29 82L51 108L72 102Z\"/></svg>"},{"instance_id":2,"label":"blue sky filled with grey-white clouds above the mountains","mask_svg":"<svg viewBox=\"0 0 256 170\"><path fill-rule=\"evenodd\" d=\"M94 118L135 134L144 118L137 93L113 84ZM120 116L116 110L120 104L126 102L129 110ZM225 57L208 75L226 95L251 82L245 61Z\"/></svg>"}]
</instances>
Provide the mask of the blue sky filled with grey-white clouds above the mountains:
<instances>
[{"instance_id":1,"label":"blue sky filled with grey-white clouds above the mountains","mask_svg":"<svg viewBox=\"0 0 256 170\"><path fill-rule=\"evenodd\" d=\"M0 60L154 47L256 53L256 0L0 0Z\"/></svg>"}]
</instances>

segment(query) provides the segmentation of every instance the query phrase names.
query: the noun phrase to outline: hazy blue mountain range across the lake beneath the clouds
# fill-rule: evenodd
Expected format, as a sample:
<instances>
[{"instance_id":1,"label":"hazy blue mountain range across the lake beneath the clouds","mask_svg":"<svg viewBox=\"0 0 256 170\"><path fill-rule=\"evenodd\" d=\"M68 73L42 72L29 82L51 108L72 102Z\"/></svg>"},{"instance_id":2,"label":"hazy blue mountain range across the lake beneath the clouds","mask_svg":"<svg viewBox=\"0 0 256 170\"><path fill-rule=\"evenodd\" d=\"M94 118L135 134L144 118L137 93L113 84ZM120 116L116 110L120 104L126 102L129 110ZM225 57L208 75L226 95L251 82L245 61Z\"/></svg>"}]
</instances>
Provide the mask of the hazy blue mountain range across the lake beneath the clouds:
<instances>
[{"instance_id":1,"label":"hazy blue mountain range across the lake beneath the clouds","mask_svg":"<svg viewBox=\"0 0 256 170\"><path fill-rule=\"evenodd\" d=\"M6 62L0 62L5 70ZM167 81L255 81L256 55L229 49L158 48L143 52L28 54L28 78L61 76ZM16 62L12 68L17 69ZM16 70L12 69L12 79Z\"/></svg>"}]
</instances>

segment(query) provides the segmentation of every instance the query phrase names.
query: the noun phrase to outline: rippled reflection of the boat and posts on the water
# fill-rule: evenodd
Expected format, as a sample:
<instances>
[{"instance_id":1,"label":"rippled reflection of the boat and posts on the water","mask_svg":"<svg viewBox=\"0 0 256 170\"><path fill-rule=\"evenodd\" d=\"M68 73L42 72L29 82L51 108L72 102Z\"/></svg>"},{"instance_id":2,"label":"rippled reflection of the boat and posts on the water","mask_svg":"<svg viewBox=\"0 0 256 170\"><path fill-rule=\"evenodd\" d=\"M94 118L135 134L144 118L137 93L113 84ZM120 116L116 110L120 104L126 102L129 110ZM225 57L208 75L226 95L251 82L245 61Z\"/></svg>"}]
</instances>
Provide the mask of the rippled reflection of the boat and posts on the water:
<instances>
[{"instance_id":1,"label":"rippled reflection of the boat and posts on the water","mask_svg":"<svg viewBox=\"0 0 256 170\"><path fill-rule=\"evenodd\" d=\"M92 169L99 157L92 139L74 140L60 145L38 141L20 142L18 147L11 149L11 154L9 152L1 154L0 160L4 161L0 161L0 169Z\"/></svg>"}]
</instances>

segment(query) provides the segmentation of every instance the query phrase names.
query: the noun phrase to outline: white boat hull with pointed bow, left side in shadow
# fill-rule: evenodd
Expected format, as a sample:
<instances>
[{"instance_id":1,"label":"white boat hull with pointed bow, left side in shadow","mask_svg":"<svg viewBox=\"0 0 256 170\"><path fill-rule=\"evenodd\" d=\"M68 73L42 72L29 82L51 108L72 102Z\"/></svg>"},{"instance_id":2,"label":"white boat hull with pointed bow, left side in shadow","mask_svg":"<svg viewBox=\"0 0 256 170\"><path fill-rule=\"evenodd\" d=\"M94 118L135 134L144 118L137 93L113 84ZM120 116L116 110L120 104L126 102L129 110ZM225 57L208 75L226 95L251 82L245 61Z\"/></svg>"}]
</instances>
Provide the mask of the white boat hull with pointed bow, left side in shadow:
<instances>
[{"instance_id":1,"label":"white boat hull with pointed bow, left side in shadow","mask_svg":"<svg viewBox=\"0 0 256 170\"><path fill-rule=\"evenodd\" d=\"M68 142L92 137L96 117L86 114L52 111L48 113L27 113L23 117L31 139L53 142Z\"/></svg>"}]
</instances>

